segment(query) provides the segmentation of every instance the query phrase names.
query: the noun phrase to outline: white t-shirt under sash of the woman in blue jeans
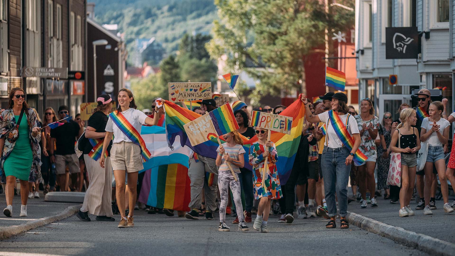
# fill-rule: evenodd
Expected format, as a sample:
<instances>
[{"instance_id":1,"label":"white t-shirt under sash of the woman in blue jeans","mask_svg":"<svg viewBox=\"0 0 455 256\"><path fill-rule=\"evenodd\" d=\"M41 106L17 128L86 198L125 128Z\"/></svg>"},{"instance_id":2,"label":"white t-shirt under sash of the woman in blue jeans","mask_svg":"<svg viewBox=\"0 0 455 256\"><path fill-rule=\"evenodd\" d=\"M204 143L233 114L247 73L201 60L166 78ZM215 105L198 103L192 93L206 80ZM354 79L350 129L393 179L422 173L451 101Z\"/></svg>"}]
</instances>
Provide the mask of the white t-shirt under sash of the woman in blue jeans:
<instances>
[{"instance_id":1,"label":"white t-shirt under sash of the woman in blue jeans","mask_svg":"<svg viewBox=\"0 0 455 256\"><path fill-rule=\"evenodd\" d=\"M341 140L338 138L337 134L335 133L335 130L334 128L332 127L332 123L329 121L329 112L324 112L324 113L320 113L318 115L319 119L321 120L321 122L324 122L327 124L327 128L326 128L326 131L327 131L327 134L326 134L326 137L327 138L327 142L329 144L324 143L325 146L328 146L329 148L342 148L344 147L343 143L341 142ZM348 118L348 114L345 114L345 115L340 115L339 116L341 118L341 121L346 124L346 118ZM354 133L359 133L359 128L357 127L357 121L355 121L355 118L353 116L351 116L348 120L348 125L346 125L346 129L348 130L349 134L352 136L352 134Z\"/></svg>"}]
</instances>

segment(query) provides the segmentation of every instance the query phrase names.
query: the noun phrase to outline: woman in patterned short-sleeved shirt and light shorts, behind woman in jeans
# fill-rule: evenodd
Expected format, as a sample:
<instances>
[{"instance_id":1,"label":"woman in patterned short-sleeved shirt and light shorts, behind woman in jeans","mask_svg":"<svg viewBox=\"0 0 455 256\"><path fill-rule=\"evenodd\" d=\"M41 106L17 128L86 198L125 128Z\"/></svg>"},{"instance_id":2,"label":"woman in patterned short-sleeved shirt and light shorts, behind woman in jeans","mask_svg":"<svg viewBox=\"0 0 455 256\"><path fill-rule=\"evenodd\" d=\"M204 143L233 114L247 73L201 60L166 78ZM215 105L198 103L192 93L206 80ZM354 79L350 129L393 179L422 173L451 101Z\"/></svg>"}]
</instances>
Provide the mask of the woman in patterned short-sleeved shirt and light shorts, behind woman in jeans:
<instances>
[{"instance_id":1,"label":"woman in patterned short-sleeved shirt and light shorts, behind woman in jeans","mask_svg":"<svg viewBox=\"0 0 455 256\"><path fill-rule=\"evenodd\" d=\"M376 144L374 139L378 136L379 119L374 116L373 103L369 98L364 98L360 102L360 114L355 116L355 120L359 126L361 143L360 151L368 157L362 165L357 165L357 174L359 175L360 193L362 193L361 208L367 207L367 189L371 195L371 207L377 207L378 203L374 198L376 191L376 181L374 180L374 168L376 167L376 159L378 157Z\"/></svg>"}]
</instances>

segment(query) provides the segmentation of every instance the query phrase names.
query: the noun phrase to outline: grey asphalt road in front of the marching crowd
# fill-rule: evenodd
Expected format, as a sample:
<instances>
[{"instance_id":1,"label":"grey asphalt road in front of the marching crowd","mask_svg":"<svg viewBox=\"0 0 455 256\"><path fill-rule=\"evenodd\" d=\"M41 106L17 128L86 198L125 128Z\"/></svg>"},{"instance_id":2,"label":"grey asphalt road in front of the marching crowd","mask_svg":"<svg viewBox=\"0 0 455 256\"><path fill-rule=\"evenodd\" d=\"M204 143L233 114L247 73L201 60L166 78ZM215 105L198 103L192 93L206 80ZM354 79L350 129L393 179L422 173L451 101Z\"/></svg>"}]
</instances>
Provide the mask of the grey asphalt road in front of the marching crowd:
<instances>
[{"instance_id":1,"label":"grey asphalt road in front of the marching crowd","mask_svg":"<svg viewBox=\"0 0 455 256\"><path fill-rule=\"evenodd\" d=\"M357 226L326 229L326 220L269 221L270 233L217 231L218 220L187 220L136 211L134 228L115 222L81 222L72 216L0 242L0 255L427 255Z\"/></svg>"}]
</instances>

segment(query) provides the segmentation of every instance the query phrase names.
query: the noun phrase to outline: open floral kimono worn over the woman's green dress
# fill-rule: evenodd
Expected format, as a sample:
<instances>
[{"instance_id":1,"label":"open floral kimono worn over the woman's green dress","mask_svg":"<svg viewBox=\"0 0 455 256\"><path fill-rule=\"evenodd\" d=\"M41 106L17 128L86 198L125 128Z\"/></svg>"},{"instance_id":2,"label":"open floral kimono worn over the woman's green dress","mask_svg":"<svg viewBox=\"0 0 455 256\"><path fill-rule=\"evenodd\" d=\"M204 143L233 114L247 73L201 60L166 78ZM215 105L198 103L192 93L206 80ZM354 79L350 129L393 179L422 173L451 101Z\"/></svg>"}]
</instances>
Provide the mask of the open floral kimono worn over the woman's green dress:
<instances>
[{"instance_id":1,"label":"open floral kimono worn over the woman's green dress","mask_svg":"<svg viewBox=\"0 0 455 256\"><path fill-rule=\"evenodd\" d=\"M41 140L41 133L38 133L38 136L32 136L32 128L34 127L41 127L40 123L38 122L38 118L36 117L35 111L29 108L24 115L27 118L27 123L29 126L29 139L30 139L30 147L33 154L33 162L30 169L30 182L41 182L41 148L40 148L40 140ZM25 116L22 118L24 121ZM14 117L14 111L12 108L5 109L0 115L0 138L5 138L6 133L16 126L16 119ZM0 176L3 175L3 164L5 160L10 156L11 151L15 146L15 142L10 143L8 139L5 138L5 145L3 146L3 152L1 156L1 167L0 169Z\"/></svg>"}]
</instances>

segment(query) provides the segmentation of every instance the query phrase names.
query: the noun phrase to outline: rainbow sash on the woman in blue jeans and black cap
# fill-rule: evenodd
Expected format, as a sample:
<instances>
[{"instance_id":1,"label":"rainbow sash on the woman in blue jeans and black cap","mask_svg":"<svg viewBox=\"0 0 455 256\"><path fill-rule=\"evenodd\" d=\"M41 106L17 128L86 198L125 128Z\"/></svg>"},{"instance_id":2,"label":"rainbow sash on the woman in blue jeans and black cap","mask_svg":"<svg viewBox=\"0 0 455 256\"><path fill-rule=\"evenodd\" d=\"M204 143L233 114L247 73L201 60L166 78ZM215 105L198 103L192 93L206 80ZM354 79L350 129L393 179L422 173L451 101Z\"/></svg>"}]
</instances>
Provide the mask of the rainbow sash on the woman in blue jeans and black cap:
<instances>
[{"instance_id":1,"label":"rainbow sash on the woman in blue jeans and black cap","mask_svg":"<svg viewBox=\"0 0 455 256\"><path fill-rule=\"evenodd\" d=\"M349 118L349 116L348 116ZM354 138L349 134L348 129L346 129L346 126L344 123L341 121L341 118L337 113L335 113L333 110L329 111L329 119L330 122L332 123L332 127L334 128L335 133L337 134L338 138L341 140L341 142L344 144L346 148L349 150L352 150L352 147L354 147ZM346 119L347 120L347 119ZM357 149L357 151L354 154L354 162L357 165L363 164L366 159L368 159L367 156L365 156L360 149Z\"/></svg>"}]
</instances>

